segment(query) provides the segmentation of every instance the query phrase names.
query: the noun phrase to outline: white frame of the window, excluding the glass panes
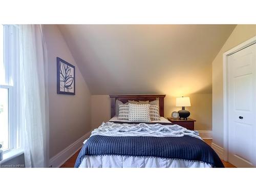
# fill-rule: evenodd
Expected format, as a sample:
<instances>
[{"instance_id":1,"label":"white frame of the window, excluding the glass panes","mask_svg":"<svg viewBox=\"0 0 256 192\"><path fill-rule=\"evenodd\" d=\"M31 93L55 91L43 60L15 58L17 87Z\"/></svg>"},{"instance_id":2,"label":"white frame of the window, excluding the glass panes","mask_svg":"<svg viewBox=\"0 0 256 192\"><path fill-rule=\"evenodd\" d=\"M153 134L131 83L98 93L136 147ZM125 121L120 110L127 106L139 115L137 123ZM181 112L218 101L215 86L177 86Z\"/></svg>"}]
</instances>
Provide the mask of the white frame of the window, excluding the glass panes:
<instances>
[{"instance_id":1,"label":"white frame of the window, excluding the glass panes","mask_svg":"<svg viewBox=\"0 0 256 192\"><path fill-rule=\"evenodd\" d=\"M16 123L16 66L18 58L18 31L14 25L4 25L4 66L5 83L0 88L8 89L8 149L4 155L20 147L20 132Z\"/></svg>"}]
</instances>

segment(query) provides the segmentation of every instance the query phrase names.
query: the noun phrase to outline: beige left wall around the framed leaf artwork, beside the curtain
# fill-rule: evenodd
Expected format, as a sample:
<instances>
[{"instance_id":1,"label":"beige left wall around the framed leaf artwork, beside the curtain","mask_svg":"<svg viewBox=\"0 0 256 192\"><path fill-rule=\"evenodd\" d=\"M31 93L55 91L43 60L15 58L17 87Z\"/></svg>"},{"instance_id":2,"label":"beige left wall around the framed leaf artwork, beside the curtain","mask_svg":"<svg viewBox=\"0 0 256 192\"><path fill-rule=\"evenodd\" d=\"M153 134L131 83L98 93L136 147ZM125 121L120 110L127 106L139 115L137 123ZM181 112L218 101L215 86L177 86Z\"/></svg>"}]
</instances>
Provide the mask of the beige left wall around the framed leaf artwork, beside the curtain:
<instances>
[{"instance_id":1,"label":"beige left wall around the framed leaf artwork, beside the curtain","mask_svg":"<svg viewBox=\"0 0 256 192\"><path fill-rule=\"evenodd\" d=\"M91 94L56 25L44 25L48 49L50 158L91 130ZM76 67L76 95L56 91L56 57Z\"/></svg>"}]
</instances>

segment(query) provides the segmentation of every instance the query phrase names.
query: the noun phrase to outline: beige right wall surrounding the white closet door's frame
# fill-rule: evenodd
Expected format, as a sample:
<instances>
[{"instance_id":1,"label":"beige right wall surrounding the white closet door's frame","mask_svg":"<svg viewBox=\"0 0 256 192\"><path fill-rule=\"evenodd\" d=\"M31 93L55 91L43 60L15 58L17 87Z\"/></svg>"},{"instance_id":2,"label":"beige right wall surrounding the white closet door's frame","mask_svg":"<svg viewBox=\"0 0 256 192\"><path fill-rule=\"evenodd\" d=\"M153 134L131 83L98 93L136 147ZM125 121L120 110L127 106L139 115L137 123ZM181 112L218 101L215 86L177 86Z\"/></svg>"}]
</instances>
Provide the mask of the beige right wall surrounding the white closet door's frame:
<instances>
[{"instance_id":1,"label":"beige right wall surrounding the white closet door's frame","mask_svg":"<svg viewBox=\"0 0 256 192\"><path fill-rule=\"evenodd\" d=\"M223 147L223 53L256 35L256 25L238 25L212 62L213 142Z\"/></svg>"}]
</instances>

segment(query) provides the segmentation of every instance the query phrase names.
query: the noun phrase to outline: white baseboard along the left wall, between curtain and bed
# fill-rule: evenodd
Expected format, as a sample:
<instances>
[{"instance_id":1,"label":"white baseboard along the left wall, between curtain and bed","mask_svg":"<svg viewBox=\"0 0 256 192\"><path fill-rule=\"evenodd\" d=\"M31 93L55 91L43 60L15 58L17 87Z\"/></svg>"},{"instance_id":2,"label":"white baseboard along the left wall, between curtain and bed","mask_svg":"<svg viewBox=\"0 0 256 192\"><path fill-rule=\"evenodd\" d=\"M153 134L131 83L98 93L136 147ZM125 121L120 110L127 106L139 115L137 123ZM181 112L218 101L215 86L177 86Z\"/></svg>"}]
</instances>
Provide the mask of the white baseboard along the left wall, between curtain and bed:
<instances>
[{"instance_id":1,"label":"white baseboard along the left wall, between curtain and bed","mask_svg":"<svg viewBox=\"0 0 256 192\"><path fill-rule=\"evenodd\" d=\"M50 167L60 167L64 164L68 159L70 159L76 152L80 150L83 145L83 141L88 139L91 135L91 132L88 132L86 135L82 136L74 143L70 144L67 148L59 152L57 155L50 159Z\"/></svg>"}]
</instances>

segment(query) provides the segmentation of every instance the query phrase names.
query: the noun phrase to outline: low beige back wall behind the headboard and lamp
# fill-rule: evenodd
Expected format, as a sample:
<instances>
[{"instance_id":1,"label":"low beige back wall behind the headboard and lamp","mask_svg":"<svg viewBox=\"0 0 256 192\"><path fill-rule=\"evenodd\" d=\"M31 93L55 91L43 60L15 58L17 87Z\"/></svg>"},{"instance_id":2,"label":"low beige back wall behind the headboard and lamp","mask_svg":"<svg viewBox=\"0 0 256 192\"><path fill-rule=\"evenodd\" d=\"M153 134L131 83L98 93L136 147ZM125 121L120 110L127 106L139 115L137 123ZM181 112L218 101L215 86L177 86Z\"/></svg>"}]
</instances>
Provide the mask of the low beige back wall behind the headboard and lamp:
<instances>
[{"instance_id":1,"label":"low beige back wall behind the headboard and lamp","mask_svg":"<svg viewBox=\"0 0 256 192\"><path fill-rule=\"evenodd\" d=\"M186 109L190 118L196 119L195 129L211 131L211 94L186 95L190 97L191 106ZM97 128L103 121L110 119L109 95L92 95L91 97L92 128ZM175 106L176 97L166 95L164 99L164 116L170 117L173 111L179 111Z\"/></svg>"}]
</instances>

